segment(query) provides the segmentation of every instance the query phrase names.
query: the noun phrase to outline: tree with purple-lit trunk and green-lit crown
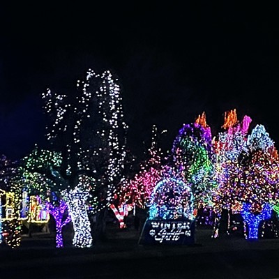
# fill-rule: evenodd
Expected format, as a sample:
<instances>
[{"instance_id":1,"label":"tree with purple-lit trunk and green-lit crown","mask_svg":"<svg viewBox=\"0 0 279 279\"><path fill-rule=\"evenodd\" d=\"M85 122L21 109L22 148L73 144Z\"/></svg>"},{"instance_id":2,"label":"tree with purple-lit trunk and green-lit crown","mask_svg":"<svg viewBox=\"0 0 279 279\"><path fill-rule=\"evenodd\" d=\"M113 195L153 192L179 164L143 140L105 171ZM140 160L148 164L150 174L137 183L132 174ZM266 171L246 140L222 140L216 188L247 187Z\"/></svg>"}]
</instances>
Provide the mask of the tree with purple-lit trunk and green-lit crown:
<instances>
[{"instance_id":1,"label":"tree with purple-lit trunk and green-lit crown","mask_svg":"<svg viewBox=\"0 0 279 279\"><path fill-rule=\"evenodd\" d=\"M28 197L35 195L43 200L56 225L56 248L63 247L62 228L70 222L67 205L61 197L61 186L52 175L53 168L61 167L61 153L39 149L38 146L20 161L17 184ZM66 216L66 217L65 217ZM23 216L22 216L23 217ZM31 216L29 216L29 222Z\"/></svg>"}]
</instances>

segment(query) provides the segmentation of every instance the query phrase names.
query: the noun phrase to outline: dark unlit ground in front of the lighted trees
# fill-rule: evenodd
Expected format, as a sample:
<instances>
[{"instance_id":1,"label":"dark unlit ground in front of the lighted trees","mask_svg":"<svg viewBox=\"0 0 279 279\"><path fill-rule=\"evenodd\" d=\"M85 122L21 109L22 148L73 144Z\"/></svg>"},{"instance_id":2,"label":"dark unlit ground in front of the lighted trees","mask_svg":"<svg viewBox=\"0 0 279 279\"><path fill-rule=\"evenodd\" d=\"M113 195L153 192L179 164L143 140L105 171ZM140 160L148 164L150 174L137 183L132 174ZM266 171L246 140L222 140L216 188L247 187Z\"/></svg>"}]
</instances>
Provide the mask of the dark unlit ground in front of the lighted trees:
<instances>
[{"instance_id":1,"label":"dark unlit ground in front of the lighted trees","mask_svg":"<svg viewBox=\"0 0 279 279\"><path fill-rule=\"evenodd\" d=\"M0 247L0 278L279 278L279 239L211 239L197 227L193 246L139 246L140 232L107 227L93 248L56 249L54 234L24 236L17 250Z\"/></svg>"}]
</instances>

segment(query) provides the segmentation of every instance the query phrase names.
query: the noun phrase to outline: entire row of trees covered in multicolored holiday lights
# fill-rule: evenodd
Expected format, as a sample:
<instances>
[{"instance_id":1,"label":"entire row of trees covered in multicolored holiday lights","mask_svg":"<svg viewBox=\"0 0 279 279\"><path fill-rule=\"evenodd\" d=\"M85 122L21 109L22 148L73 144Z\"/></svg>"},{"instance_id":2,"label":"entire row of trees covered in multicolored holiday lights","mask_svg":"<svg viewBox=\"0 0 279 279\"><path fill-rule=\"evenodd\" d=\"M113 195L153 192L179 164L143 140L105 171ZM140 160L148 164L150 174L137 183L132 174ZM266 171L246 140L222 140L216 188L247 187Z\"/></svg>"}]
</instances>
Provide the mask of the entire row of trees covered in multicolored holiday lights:
<instances>
[{"instance_id":1,"label":"entire row of trees covered in multicolored holiday lights","mask_svg":"<svg viewBox=\"0 0 279 279\"><path fill-rule=\"evenodd\" d=\"M195 220L197 210L206 207L216 216L214 237L222 211L241 213L247 238L257 239L259 222L279 211L279 156L264 126L251 128L249 116L240 122L236 110L230 110L223 130L212 137L203 112L183 125L165 158L153 126L149 159L132 179L125 178L128 126L120 89L110 71L98 75L89 69L73 96L50 89L42 94L52 151L36 146L16 165L0 158L0 197L10 201L1 204L0 199L0 235L5 220L12 236L8 245L20 245L22 220L47 223L50 213L56 220L57 248L63 247L62 227L70 221L73 246L91 247L89 213L110 207L123 228L135 206L148 209L149 220L162 222Z\"/></svg>"}]
</instances>

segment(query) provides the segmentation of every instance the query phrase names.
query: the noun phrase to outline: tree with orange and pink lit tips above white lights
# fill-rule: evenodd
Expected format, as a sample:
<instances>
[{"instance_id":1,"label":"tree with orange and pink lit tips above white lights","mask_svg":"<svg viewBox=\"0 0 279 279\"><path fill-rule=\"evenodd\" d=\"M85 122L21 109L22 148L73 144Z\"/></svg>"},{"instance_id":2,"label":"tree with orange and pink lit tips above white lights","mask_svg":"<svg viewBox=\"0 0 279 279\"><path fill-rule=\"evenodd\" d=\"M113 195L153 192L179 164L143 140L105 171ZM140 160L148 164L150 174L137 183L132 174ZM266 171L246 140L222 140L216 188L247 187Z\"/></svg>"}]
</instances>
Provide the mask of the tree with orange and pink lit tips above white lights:
<instances>
[{"instance_id":1,"label":"tree with orange and pink lit tips above white lights","mask_svg":"<svg viewBox=\"0 0 279 279\"><path fill-rule=\"evenodd\" d=\"M217 186L212 188L211 207L215 213L213 237L219 236L222 212L240 213L241 201L239 192L239 176L241 166L239 158L245 149L248 129L252 120L244 116L240 122L236 110L225 112L224 129L213 137L213 164ZM229 216L228 216L229 218ZM229 225L228 225L229 226Z\"/></svg>"}]
</instances>

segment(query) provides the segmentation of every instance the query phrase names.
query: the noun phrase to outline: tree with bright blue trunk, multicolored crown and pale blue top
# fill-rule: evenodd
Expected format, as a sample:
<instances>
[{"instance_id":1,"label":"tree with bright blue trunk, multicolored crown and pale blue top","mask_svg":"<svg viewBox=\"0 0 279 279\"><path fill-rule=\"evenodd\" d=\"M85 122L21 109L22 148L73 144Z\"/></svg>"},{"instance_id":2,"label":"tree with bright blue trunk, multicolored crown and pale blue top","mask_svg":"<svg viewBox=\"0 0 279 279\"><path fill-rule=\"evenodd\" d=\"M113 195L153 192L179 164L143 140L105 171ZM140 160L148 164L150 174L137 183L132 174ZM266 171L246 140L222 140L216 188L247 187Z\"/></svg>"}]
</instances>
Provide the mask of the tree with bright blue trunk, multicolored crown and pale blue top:
<instances>
[{"instance_id":1,"label":"tree with bright blue trunk, multicolored crown and pale blue top","mask_svg":"<svg viewBox=\"0 0 279 279\"><path fill-rule=\"evenodd\" d=\"M271 218L279 195L278 152L264 126L255 126L248 136L241 165L241 215L248 224L246 237L257 239L259 222Z\"/></svg>"}]
</instances>

